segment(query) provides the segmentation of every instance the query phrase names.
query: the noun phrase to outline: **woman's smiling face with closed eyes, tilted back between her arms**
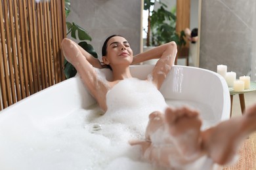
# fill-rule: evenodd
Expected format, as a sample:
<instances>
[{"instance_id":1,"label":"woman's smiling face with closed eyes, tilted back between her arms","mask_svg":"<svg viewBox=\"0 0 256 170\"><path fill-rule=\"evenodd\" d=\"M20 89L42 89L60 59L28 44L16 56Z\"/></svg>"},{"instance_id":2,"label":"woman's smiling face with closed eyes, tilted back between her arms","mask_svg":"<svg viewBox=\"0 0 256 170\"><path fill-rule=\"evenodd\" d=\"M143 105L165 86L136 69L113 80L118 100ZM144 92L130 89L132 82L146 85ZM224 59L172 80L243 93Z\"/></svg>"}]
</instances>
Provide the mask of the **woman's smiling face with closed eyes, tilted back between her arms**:
<instances>
[{"instance_id":1,"label":"woman's smiling face with closed eyes, tilted back between her arms","mask_svg":"<svg viewBox=\"0 0 256 170\"><path fill-rule=\"evenodd\" d=\"M123 37L112 37L107 43L106 51L103 61L112 68L117 64L130 65L133 61L133 50L131 50L129 42Z\"/></svg>"}]
</instances>

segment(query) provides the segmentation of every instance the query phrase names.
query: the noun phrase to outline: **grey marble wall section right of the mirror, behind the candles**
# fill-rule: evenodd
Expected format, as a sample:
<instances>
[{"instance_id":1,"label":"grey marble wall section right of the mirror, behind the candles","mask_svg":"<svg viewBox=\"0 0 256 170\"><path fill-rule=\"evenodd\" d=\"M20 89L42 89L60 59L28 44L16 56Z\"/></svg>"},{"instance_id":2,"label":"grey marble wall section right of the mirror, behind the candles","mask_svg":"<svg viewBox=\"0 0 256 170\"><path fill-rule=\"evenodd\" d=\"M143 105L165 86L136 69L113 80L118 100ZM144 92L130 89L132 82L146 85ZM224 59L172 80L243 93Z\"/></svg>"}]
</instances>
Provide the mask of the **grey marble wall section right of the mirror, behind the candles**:
<instances>
[{"instance_id":1,"label":"grey marble wall section right of the mirror, behind the candles","mask_svg":"<svg viewBox=\"0 0 256 170\"><path fill-rule=\"evenodd\" d=\"M202 1L200 67L228 66L237 76L251 68L254 0Z\"/></svg>"}]
</instances>

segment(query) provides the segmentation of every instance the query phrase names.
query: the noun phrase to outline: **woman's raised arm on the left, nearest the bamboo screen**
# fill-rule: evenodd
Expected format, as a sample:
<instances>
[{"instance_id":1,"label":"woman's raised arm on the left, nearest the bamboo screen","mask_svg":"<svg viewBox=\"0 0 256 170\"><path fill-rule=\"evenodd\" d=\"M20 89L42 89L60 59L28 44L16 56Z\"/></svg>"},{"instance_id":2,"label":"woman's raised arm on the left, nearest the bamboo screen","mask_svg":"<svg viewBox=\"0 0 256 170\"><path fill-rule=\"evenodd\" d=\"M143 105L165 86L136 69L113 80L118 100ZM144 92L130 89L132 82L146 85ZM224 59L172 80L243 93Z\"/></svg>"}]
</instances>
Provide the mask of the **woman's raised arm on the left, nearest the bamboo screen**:
<instances>
[{"instance_id":1,"label":"woman's raised arm on the left, nearest the bamboo screen","mask_svg":"<svg viewBox=\"0 0 256 170\"><path fill-rule=\"evenodd\" d=\"M70 39L64 39L61 45L65 58L75 67L81 76L81 80L87 86L93 97L95 97L100 108L106 110L106 93L109 89L108 83L103 82L102 78L98 77L94 68L102 68L100 61L93 58L83 48L79 48L79 45Z\"/></svg>"}]
</instances>

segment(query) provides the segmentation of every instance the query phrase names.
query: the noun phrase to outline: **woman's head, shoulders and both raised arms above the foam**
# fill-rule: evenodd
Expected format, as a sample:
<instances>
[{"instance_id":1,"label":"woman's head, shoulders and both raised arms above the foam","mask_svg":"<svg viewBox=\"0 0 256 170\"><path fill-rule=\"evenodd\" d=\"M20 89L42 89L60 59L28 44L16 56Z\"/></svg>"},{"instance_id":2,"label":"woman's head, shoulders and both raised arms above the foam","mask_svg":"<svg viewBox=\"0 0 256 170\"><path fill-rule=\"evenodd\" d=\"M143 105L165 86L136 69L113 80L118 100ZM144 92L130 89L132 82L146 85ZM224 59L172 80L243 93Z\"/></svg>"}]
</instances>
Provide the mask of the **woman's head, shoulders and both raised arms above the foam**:
<instances>
[{"instance_id":1,"label":"woman's head, shoulders and both raised arms above the foam","mask_svg":"<svg viewBox=\"0 0 256 170\"><path fill-rule=\"evenodd\" d=\"M70 46L73 46L75 49L71 49ZM154 56L154 58L160 58L160 61L156 64L152 73L153 82L159 89L163 83L165 75L169 73L177 53L175 42L169 42L159 46L157 49L144 52L133 58L133 50L131 50L127 40L120 36L110 36L106 39L102 47L103 63L105 65L110 65L113 73L113 80L106 84L98 78L95 69L93 69L93 67L104 67L98 59L93 58L91 54L68 39L63 40L62 49L64 56L70 63L72 63L72 65L74 65L77 72L83 73L80 74L83 83L89 88L89 91L93 97L95 97L100 108L104 111L107 110L106 93L108 90L115 86L120 80L132 77L129 71L129 65L152 59L152 56ZM74 52L76 57L74 57ZM160 70L161 68L163 68L163 70ZM159 71L161 71L162 75L158 75Z\"/></svg>"}]
</instances>

